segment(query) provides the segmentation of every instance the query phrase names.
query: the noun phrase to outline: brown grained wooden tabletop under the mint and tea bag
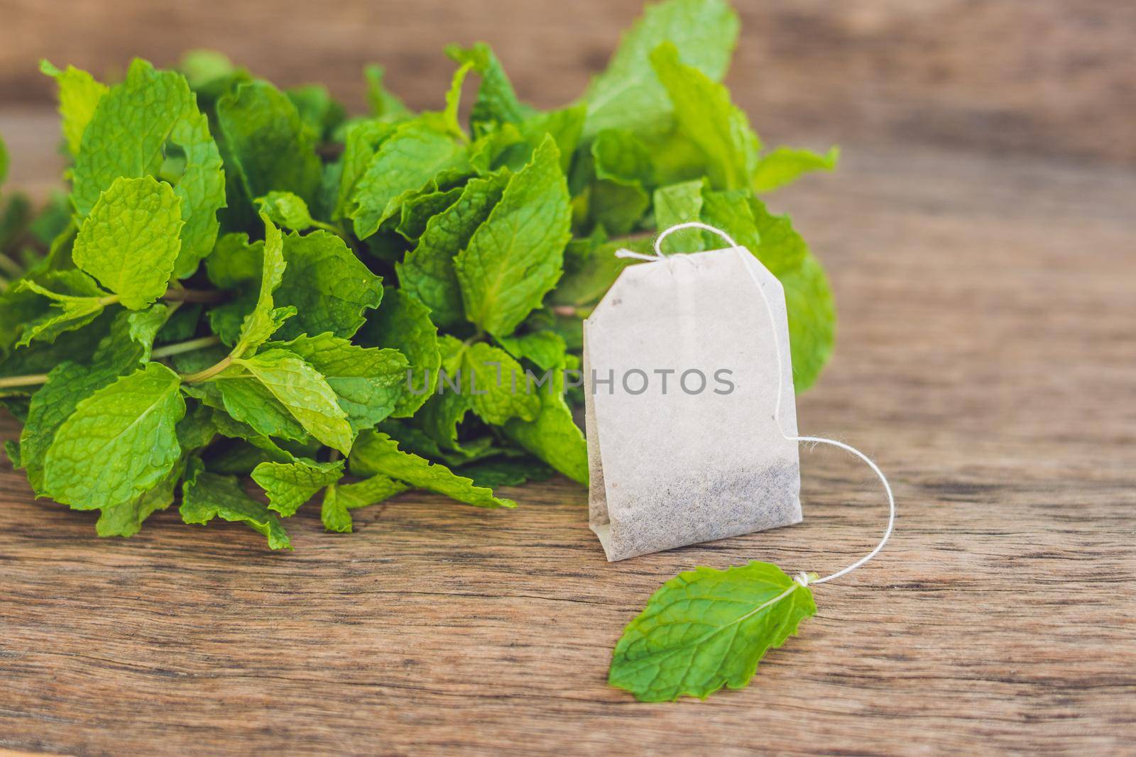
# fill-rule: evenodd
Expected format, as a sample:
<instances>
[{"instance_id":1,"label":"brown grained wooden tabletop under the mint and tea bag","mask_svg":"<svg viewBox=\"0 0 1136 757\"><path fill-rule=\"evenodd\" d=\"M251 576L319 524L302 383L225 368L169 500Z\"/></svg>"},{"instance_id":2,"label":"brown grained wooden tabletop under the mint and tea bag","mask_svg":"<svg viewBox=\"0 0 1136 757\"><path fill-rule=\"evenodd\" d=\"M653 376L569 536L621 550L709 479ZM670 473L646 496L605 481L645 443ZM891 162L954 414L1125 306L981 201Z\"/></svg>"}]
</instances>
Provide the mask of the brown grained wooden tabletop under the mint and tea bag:
<instances>
[{"instance_id":1,"label":"brown grained wooden tabletop under the mint and tea bag","mask_svg":"<svg viewBox=\"0 0 1136 757\"><path fill-rule=\"evenodd\" d=\"M8 126L24 134L17 169L49 154L53 127ZM867 550L883 501L840 453L803 454L803 524L618 564L562 479L508 491L515 512L407 494L360 511L352 536L324 533L309 506L295 552L273 554L176 510L100 540L92 515L33 502L6 462L0 746L1133 754L1136 175L845 155L775 201L828 266L841 316L801 428L875 455L899 527L817 589L817 617L749 689L638 704L605 685L608 661L679 570L826 572Z\"/></svg>"}]
</instances>

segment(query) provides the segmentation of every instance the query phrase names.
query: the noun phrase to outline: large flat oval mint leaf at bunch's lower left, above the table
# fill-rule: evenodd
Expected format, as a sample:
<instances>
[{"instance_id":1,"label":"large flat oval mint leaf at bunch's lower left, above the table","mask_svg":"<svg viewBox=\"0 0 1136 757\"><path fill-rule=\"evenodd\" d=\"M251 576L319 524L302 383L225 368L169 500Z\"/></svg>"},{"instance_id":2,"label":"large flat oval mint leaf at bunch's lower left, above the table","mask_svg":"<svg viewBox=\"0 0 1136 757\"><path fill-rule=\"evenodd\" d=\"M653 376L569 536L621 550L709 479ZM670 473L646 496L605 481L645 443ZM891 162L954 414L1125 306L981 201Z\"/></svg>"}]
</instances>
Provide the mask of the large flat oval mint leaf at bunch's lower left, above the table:
<instances>
[{"instance_id":1,"label":"large flat oval mint leaf at bunch's lower left, above the table","mask_svg":"<svg viewBox=\"0 0 1136 757\"><path fill-rule=\"evenodd\" d=\"M48 449L44 493L93 510L157 485L182 453L174 431L185 414L179 384L174 371L148 363L81 401Z\"/></svg>"}]
</instances>

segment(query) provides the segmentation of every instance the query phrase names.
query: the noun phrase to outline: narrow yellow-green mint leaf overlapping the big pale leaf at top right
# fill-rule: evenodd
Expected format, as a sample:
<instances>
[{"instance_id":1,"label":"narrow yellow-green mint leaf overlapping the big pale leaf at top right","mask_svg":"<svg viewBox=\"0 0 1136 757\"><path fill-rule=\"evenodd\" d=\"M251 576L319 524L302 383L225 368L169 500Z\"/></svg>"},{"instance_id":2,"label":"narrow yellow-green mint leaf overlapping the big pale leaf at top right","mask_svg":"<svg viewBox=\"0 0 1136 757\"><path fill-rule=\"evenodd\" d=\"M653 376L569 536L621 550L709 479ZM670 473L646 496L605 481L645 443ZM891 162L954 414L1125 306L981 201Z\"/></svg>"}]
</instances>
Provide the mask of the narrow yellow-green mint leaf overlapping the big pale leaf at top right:
<instances>
[{"instance_id":1,"label":"narrow yellow-green mint leaf overlapping the big pale leaf at top right","mask_svg":"<svg viewBox=\"0 0 1136 757\"><path fill-rule=\"evenodd\" d=\"M675 106L679 132L702 151L710 183L720 190L750 186L760 142L729 91L693 66L683 65L671 43L651 53L659 81Z\"/></svg>"}]
</instances>

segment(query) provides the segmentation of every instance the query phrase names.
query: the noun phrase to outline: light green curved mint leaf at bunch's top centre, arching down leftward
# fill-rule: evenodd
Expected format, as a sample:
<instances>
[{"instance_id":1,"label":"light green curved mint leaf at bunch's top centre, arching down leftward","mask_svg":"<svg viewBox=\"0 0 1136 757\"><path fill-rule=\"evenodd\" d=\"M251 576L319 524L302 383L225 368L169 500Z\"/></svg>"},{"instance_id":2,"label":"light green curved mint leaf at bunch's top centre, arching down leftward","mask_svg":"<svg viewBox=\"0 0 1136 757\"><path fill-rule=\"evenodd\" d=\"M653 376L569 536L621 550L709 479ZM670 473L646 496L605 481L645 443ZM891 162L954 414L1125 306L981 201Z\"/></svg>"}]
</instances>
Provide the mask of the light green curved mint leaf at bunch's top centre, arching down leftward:
<instances>
[{"instance_id":1,"label":"light green curved mint leaf at bunch's top centre, arching down leftward","mask_svg":"<svg viewBox=\"0 0 1136 757\"><path fill-rule=\"evenodd\" d=\"M354 232L365 239L400 210L403 193L414 192L465 160L465 150L449 133L425 119L408 121L386 137L367 170L356 182Z\"/></svg>"}]
</instances>

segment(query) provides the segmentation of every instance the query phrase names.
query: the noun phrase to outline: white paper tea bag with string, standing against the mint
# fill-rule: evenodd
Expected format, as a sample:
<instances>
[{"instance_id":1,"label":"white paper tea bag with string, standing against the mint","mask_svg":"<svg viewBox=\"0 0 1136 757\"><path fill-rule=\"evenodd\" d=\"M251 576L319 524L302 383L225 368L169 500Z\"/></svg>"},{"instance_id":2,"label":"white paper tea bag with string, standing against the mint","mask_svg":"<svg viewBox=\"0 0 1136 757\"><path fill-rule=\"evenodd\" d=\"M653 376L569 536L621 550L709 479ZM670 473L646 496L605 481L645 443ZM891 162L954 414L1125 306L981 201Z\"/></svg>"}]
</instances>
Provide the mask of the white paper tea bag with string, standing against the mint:
<instances>
[{"instance_id":1,"label":"white paper tea bag with string, standing against the mint","mask_svg":"<svg viewBox=\"0 0 1136 757\"><path fill-rule=\"evenodd\" d=\"M626 253L650 262L584 321L588 520L609 561L801 521L785 293L722 236Z\"/></svg>"}]
</instances>

